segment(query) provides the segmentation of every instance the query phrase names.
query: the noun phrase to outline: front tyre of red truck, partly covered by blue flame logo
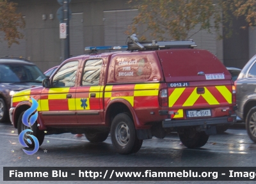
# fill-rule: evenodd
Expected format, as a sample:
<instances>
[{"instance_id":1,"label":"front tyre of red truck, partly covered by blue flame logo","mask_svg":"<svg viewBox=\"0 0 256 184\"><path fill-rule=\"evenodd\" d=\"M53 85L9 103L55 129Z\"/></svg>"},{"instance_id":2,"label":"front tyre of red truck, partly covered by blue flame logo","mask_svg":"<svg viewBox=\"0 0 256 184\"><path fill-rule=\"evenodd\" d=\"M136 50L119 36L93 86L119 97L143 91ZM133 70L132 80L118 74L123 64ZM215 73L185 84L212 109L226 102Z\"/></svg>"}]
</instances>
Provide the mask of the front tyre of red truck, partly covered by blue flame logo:
<instances>
[{"instance_id":1,"label":"front tyre of red truck, partly covered by blue flame logo","mask_svg":"<svg viewBox=\"0 0 256 184\"><path fill-rule=\"evenodd\" d=\"M25 111L24 111L25 112ZM37 123L35 122L32 127L27 127L26 125L24 125L22 123L22 116L24 114L24 112L22 112L19 116L19 120L18 120L18 134L20 134L20 132L22 132L23 130L26 130L26 129L31 129L33 132L28 132L24 135L24 141L26 142L26 144L28 145L29 148L33 148L35 147L35 142L33 141L33 139L31 139L31 137L29 135L34 135L37 139L38 139L38 142L39 142L39 146L42 145L42 143L44 142L44 131L42 130L39 130L38 127L37 127ZM27 139L30 139L32 144L29 144L29 142L27 141Z\"/></svg>"}]
</instances>

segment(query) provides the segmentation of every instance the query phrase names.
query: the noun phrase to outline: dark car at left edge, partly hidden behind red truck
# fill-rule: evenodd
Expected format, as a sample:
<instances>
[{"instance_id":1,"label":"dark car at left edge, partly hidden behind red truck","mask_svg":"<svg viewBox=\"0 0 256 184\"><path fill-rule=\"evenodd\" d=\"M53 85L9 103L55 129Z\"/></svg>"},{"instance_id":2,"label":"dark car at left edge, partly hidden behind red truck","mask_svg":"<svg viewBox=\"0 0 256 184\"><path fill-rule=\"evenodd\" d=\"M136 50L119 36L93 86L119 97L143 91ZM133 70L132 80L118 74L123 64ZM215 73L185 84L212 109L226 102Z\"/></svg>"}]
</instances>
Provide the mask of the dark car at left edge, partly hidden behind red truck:
<instances>
[{"instance_id":1,"label":"dark car at left edge, partly hidden behind red truck","mask_svg":"<svg viewBox=\"0 0 256 184\"><path fill-rule=\"evenodd\" d=\"M44 73L22 59L0 58L0 122L8 121L11 98L23 89L42 86Z\"/></svg>"}]
</instances>

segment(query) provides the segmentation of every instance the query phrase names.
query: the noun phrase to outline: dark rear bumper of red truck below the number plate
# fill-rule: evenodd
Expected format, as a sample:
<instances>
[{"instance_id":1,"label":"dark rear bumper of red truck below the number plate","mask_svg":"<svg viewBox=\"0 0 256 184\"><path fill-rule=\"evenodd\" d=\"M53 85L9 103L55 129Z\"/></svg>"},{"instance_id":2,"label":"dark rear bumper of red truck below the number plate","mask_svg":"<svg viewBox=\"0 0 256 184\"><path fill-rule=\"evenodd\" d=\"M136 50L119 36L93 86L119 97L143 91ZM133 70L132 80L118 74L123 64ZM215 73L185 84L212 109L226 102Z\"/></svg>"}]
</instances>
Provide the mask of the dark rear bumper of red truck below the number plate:
<instances>
[{"instance_id":1,"label":"dark rear bumper of red truck below the number plate","mask_svg":"<svg viewBox=\"0 0 256 184\"><path fill-rule=\"evenodd\" d=\"M232 118L232 121L228 121L228 118ZM173 119L164 119L163 128L171 127L192 127L200 125L232 125L236 123L236 114L231 116L225 116L220 118L204 118L204 119L182 119L182 120L173 120Z\"/></svg>"}]
</instances>

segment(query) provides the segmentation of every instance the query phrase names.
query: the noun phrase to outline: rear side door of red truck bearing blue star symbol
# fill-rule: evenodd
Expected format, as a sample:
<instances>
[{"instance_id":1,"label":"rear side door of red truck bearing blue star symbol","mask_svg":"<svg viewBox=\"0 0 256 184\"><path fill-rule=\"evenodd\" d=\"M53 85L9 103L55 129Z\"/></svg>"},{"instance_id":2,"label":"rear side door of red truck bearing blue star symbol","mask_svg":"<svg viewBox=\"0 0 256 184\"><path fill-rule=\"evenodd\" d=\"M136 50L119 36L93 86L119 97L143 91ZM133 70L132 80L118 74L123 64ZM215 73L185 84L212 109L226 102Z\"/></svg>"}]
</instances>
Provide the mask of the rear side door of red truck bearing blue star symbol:
<instances>
[{"instance_id":1,"label":"rear side door of red truck bearing blue star symbol","mask_svg":"<svg viewBox=\"0 0 256 184\"><path fill-rule=\"evenodd\" d=\"M77 121L81 124L102 124L102 89L100 73L103 59L86 59L81 72L80 84L76 89Z\"/></svg>"}]
</instances>

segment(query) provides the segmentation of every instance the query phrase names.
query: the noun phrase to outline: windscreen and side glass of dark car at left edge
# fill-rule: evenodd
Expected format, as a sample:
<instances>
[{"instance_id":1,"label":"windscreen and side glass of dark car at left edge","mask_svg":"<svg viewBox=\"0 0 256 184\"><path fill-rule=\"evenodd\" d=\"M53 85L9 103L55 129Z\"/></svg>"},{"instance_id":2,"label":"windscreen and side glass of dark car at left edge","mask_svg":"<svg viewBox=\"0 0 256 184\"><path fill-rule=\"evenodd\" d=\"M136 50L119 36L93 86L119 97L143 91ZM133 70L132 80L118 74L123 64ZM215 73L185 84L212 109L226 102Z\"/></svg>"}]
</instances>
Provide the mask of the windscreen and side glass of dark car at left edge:
<instances>
[{"instance_id":1,"label":"windscreen and side glass of dark car at left edge","mask_svg":"<svg viewBox=\"0 0 256 184\"><path fill-rule=\"evenodd\" d=\"M45 78L44 73L35 65L20 65L16 63L0 64L1 83L41 83Z\"/></svg>"}]
</instances>

